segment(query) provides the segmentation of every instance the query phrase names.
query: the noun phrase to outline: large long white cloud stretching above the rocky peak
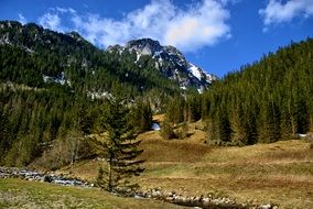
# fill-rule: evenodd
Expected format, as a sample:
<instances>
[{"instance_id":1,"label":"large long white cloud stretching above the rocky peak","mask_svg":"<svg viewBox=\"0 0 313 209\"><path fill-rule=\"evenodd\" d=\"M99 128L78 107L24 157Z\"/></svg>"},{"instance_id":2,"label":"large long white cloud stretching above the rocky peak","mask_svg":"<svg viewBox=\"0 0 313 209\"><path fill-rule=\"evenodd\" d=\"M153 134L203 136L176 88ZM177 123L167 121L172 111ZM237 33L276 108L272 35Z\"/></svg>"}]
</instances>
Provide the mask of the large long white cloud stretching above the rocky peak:
<instances>
[{"instance_id":1,"label":"large long white cloud stretching above the rocky peak","mask_svg":"<svg viewBox=\"0 0 313 209\"><path fill-rule=\"evenodd\" d=\"M125 14L121 20L58 8L44 14L40 23L53 30L64 29L60 14L66 13L69 15L64 15L62 21L69 19L74 30L97 45L125 44L132 38L151 37L190 52L230 36L227 24L230 15L226 6L234 1L202 0L183 9L171 0L152 0L143 8Z\"/></svg>"}]
</instances>

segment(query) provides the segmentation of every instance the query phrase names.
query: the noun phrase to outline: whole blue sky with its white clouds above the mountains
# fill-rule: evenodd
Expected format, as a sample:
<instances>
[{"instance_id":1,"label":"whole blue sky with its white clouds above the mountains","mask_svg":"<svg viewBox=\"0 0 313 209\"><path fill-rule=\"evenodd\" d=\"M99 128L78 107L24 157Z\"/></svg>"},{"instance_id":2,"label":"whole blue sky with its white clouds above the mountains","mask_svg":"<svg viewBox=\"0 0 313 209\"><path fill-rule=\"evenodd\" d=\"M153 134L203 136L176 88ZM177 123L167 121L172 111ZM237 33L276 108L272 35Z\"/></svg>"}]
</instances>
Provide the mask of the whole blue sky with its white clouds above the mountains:
<instances>
[{"instance_id":1,"label":"whole blue sky with its white clouds above the mountains","mask_svg":"<svg viewBox=\"0 0 313 209\"><path fill-rule=\"evenodd\" d=\"M76 31L100 48L150 37L222 78L313 37L313 0L0 0L0 20Z\"/></svg>"}]
</instances>

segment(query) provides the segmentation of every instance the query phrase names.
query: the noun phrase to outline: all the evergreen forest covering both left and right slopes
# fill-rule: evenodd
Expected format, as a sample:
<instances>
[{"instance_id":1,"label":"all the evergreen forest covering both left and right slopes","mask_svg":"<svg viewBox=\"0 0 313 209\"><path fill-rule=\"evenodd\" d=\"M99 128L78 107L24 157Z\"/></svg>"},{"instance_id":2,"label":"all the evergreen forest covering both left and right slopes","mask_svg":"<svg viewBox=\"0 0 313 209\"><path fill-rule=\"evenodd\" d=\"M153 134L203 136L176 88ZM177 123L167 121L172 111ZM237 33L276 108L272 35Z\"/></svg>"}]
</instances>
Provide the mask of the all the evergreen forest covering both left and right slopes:
<instances>
[{"instance_id":1,"label":"all the evergreen forest covering both left and right slopes","mask_svg":"<svg viewBox=\"0 0 313 209\"><path fill-rule=\"evenodd\" d=\"M122 97L126 124L150 130L165 113L164 139L184 139L202 120L208 144L249 145L313 130L313 40L292 43L215 81L180 90L151 56L96 48L77 33L18 22L1 31L0 164L51 169L97 156L87 135L107 131L110 101ZM10 24L10 25L9 25ZM181 127L181 132L173 129ZM165 131L165 132L164 132Z\"/></svg>"}]
</instances>

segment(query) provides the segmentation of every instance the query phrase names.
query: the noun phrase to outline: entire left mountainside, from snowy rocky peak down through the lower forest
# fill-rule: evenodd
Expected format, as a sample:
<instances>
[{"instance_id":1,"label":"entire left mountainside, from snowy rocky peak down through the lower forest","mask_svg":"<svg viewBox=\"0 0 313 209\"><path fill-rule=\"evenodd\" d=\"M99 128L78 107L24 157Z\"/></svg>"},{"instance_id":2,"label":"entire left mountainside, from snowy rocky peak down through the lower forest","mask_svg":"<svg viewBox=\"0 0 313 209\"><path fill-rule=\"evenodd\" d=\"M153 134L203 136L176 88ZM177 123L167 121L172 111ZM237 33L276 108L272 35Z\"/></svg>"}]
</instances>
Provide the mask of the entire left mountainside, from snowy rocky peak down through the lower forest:
<instances>
[{"instance_id":1,"label":"entire left mountainside, from snowy rocky peak down through the lower forest","mask_svg":"<svg viewBox=\"0 0 313 209\"><path fill-rule=\"evenodd\" d=\"M0 165L56 168L73 161L77 144L79 156L90 157L90 144L77 139L105 131L112 98L125 98L128 125L140 132L151 127L152 111L198 95L208 78L152 40L100 50L76 32L0 21Z\"/></svg>"}]
</instances>

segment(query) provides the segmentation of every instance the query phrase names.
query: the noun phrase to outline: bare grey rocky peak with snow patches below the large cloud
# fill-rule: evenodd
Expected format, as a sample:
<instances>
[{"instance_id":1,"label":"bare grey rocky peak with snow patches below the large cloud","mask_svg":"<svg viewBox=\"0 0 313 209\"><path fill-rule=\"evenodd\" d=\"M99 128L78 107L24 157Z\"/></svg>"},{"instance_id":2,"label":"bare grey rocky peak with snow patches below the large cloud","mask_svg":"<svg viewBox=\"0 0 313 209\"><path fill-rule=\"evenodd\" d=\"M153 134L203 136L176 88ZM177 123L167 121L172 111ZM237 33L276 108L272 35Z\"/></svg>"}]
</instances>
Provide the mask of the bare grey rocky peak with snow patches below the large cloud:
<instances>
[{"instance_id":1,"label":"bare grey rocky peak with snow patches below the large cloud","mask_svg":"<svg viewBox=\"0 0 313 209\"><path fill-rule=\"evenodd\" d=\"M199 67L186 61L184 55L174 46L161 46L158 41L151 38L133 40L125 46L109 46L106 52L118 51L136 54L134 63L140 65L142 56L150 56L154 61L154 67L165 77L175 80L181 89L195 87L203 92L217 78L206 74Z\"/></svg>"}]
</instances>

